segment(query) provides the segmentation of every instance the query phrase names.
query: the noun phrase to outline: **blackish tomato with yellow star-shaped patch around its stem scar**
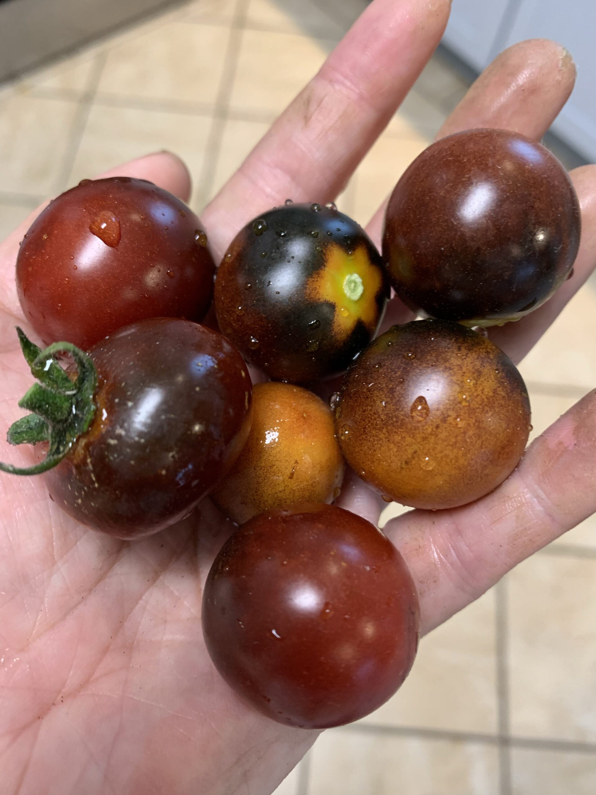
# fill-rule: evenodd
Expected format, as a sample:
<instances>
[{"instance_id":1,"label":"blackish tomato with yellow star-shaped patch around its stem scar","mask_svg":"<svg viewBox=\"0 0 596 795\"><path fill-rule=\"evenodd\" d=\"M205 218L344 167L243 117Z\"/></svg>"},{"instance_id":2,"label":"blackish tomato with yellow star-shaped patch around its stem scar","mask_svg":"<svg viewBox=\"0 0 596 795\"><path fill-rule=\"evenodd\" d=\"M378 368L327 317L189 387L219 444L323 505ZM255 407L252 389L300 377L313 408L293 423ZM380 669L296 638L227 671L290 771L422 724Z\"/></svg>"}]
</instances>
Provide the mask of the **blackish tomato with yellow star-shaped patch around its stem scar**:
<instances>
[{"instance_id":1,"label":"blackish tomato with yellow star-shaped patch around its stem scar","mask_svg":"<svg viewBox=\"0 0 596 795\"><path fill-rule=\"evenodd\" d=\"M389 285L365 231L333 207L289 204L234 238L215 278L219 326L271 378L345 370L373 338Z\"/></svg>"}]
</instances>

